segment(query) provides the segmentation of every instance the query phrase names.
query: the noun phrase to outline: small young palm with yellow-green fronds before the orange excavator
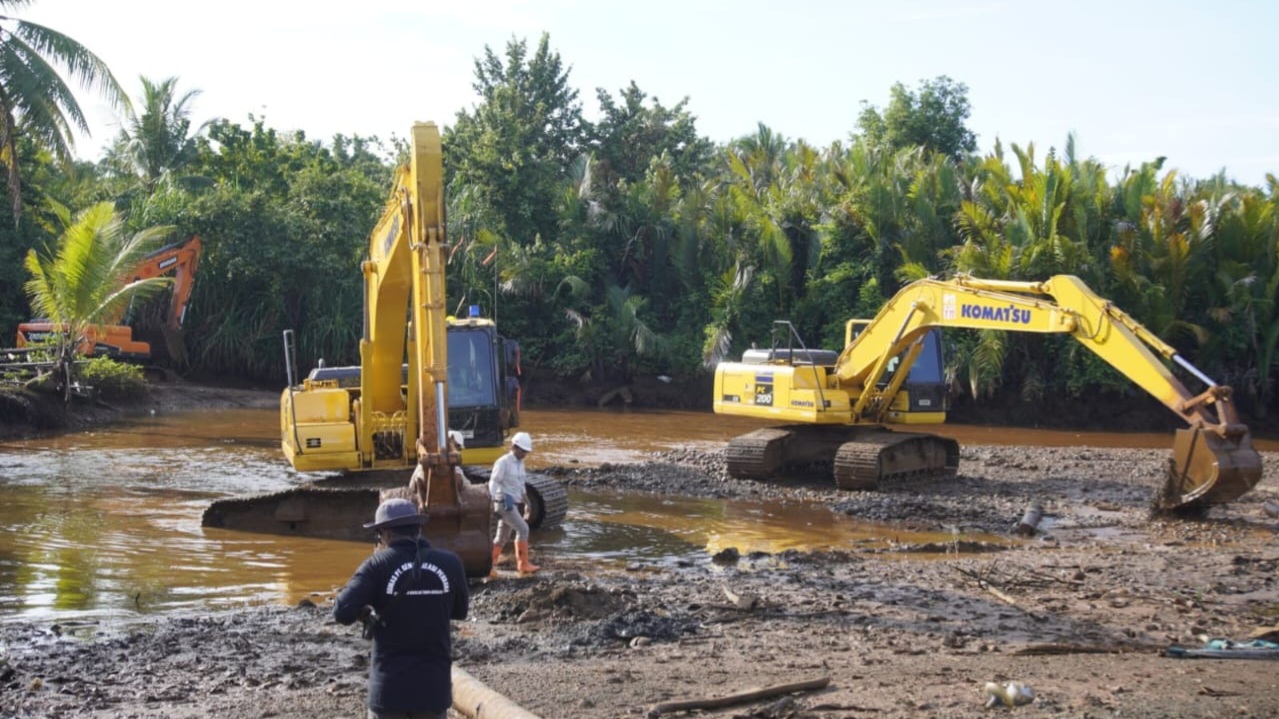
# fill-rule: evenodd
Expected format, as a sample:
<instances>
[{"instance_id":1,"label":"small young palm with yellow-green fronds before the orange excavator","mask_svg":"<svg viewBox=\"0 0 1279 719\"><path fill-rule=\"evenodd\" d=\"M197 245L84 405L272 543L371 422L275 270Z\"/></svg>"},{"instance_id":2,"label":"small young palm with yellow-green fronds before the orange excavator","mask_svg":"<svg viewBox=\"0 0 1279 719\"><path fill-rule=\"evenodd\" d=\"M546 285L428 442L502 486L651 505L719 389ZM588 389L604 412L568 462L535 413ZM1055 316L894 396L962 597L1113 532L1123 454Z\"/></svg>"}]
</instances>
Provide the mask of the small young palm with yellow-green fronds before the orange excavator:
<instances>
[{"instance_id":1,"label":"small young palm with yellow-green fronds before the orange excavator","mask_svg":"<svg viewBox=\"0 0 1279 719\"><path fill-rule=\"evenodd\" d=\"M146 298L171 281L136 280L129 273L173 228L127 234L110 202L93 205L74 221L63 219L67 229L51 255L27 253L24 267L31 279L24 289L37 316L65 328L56 335L54 376L69 399L72 363L88 328L118 320L133 297Z\"/></svg>"}]
</instances>

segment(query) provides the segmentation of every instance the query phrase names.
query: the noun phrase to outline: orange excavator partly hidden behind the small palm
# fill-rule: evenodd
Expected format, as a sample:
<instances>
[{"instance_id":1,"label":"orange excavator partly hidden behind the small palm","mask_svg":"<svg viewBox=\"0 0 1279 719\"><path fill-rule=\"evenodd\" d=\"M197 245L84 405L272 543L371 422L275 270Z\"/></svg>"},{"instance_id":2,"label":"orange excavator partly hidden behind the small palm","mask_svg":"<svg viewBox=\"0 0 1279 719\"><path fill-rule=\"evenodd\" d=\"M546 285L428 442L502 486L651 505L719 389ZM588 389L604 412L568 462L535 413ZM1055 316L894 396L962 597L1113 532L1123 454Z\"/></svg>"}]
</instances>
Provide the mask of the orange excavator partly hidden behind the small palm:
<instances>
[{"instance_id":1,"label":"orange excavator partly hidden behind the small palm","mask_svg":"<svg viewBox=\"0 0 1279 719\"><path fill-rule=\"evenodd\" d=\"M187 302L196 287L196 270L202 251L203 243L193 235L147 255L129 274L132 281L173 274L173 298L165 317L169 331L179 331L187 319ZM18 325L18 347L41 344L60 331L65 331L65 325L47 320L22 322ZM81 339L79 353L86 357L146 361L151 358L151 344L133 339L133 328L128 325L90 325Z\"/></svg>"}]
</instances>

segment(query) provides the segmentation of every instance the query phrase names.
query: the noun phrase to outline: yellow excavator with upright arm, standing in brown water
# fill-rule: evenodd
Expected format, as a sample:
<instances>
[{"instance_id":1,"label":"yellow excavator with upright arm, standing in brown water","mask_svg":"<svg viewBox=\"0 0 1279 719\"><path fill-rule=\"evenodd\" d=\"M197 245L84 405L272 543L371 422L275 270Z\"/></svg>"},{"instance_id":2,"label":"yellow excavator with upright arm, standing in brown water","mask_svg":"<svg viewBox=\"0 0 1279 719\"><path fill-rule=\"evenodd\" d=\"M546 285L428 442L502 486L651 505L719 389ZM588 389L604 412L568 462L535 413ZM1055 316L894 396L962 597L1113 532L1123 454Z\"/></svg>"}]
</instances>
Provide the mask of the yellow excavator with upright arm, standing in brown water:
<instances>
[{"instance_id":1,"label":"yellow excavator with upright arm, standing in brown water","mask_svg":"<svg viewBox=\"0 0 1279 719\"><path fill-rule=\"evenodd\" d=\"M317 367L294 384L292 333L285 333L281 449L297 470L343 475L325 486L219 500L206 509L205 526L367 540L361 525L379 502L407 496L430 516L428 539L457 553L468 576L487 576L492 505L487 487L464 478L462 452L491 462L505 429L518 423L518 348L491 320L446 316L444 209L440 133L434 123L418 123L409 162L396 170L361 266L359 367ZM459 393L463 381L487 389L473 393L468 385L469 404L450 411L450 379ZM532 526L563 519L567 493L554 480L533 476L528 494Z\"/></svg>"}]
</instances>

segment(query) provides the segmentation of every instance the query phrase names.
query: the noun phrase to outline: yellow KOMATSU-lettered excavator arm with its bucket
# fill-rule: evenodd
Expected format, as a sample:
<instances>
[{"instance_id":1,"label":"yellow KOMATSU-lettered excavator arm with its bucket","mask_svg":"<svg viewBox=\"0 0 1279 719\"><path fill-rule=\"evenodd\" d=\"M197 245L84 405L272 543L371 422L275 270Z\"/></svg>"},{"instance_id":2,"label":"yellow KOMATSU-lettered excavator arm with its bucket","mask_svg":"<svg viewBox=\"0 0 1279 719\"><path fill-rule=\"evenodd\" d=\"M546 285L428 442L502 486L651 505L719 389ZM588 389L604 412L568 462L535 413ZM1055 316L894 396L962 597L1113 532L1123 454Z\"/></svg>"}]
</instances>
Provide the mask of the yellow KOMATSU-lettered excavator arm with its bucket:
<instances>
[{"instance_id":1,"label":"yellow KOMATSU-lettered excavator arm with its bucket","mask_svg":"<svg viewBox=\"0 0 1279 719\"><path fill-rule=\"evenodd\" d=\"M920 280L899 292L840 353L834 385L845 388L853 417L877 411L900 384L879 389L889 358L906 353L931 328L1068 334L1181 417L1173 444L1165 507L1219 504L1247 493L1261 478L1261 455L1238 417L1229 386L1219 385L1149 329L1097 297L1072 275L1045 281L985 280L959 275ZM1169 363L1206 385L1198 394L1178 380Z\"/></svg>"}]
</instances>

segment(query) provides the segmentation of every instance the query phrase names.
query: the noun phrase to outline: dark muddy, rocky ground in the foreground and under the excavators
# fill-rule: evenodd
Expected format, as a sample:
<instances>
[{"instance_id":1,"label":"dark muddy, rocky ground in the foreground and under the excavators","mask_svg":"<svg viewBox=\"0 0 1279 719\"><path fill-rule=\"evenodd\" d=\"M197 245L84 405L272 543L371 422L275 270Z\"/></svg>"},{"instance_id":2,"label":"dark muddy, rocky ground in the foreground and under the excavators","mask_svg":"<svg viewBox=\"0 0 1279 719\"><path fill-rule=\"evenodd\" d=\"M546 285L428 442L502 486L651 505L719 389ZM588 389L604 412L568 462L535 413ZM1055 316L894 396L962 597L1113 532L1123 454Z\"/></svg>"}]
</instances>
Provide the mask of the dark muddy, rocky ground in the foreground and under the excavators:
<instances>
[{"instance_id":1,"label":"dark muddy, rocky ground in the foreground and under the excavators","mask_svg":"<svg viewBox=\"0 0 1279 719\"><path fill-rule=\"evenodd\" d=\"M679 715L661 702L794 683L820 688L700 715L1276 716L1279 663L1166 650L1279 624L1279 518L1264 505L1279 454L1233 504L1159 518L1165 454L969 446L955 480L875 493L734 481L694 452L553 470L569 487L819 502L941 539L675 568L544 562L472 586L457 664L546 719ZM1039 531L1012 533L1036 503ZM359 716L367 646L330 601L3 624L0 716ZM985 684L1010 681L1033 701L987 709Z\"/></svg>"}]
</instances>

